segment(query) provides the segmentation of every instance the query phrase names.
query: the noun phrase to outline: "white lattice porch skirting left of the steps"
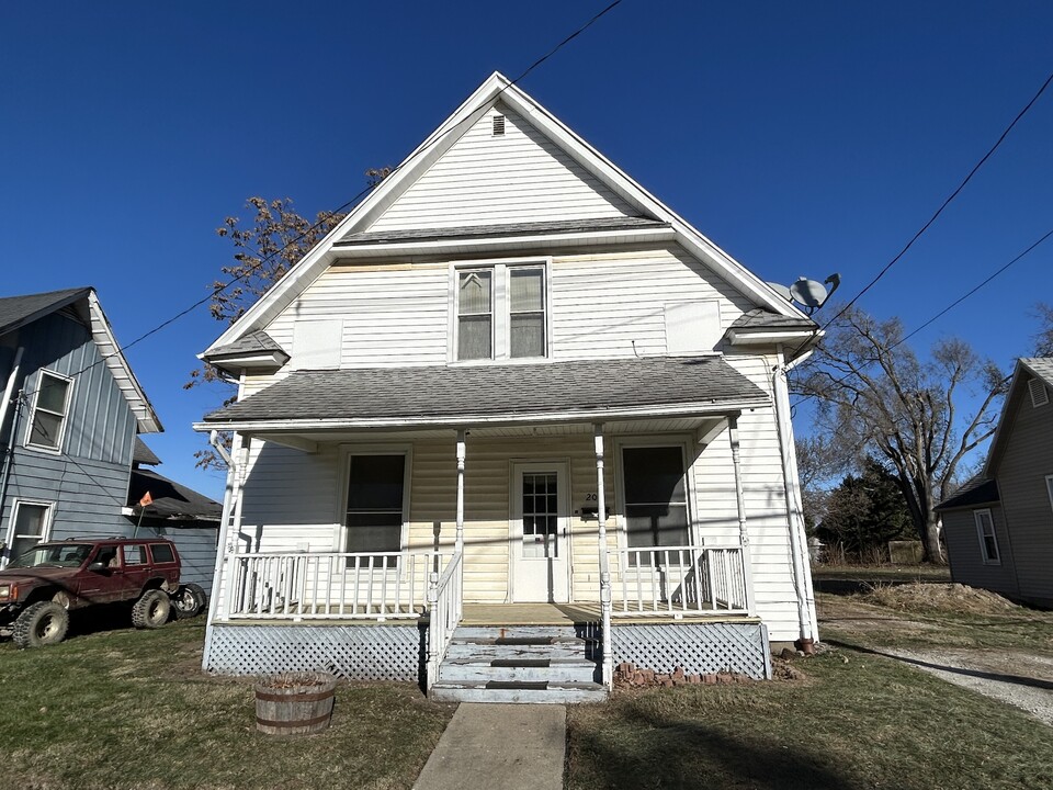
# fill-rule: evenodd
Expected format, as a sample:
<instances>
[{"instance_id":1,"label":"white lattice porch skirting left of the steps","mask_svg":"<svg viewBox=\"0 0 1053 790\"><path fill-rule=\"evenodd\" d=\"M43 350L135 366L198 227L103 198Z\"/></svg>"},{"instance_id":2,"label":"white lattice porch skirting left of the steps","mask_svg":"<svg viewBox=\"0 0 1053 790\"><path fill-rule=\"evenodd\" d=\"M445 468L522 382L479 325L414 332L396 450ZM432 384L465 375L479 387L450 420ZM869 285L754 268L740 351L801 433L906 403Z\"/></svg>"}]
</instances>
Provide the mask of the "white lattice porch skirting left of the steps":
<instances>
[{"instance_id":1,"label":"white lattice porch skirting left of the steps","mask_svg":"<svg viewBox=\"0 0 1053 790\"><path fill-rule=\"evenodd\" d=\"M204 666L217 675L327 672L348 680L418 682L427 630L407 625L214 623Z\"/></svg>"}]
</instances>

